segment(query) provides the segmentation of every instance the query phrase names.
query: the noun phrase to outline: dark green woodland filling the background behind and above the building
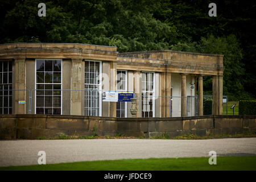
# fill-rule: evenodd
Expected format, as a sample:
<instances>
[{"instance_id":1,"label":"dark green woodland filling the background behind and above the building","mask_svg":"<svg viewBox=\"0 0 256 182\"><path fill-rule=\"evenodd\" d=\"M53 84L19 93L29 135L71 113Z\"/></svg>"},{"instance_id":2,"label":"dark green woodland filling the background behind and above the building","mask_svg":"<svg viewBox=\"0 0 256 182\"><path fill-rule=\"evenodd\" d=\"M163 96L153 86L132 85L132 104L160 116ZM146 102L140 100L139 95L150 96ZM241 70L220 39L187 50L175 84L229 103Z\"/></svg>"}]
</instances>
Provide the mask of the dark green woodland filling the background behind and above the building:
<instances>
[{"instance_id":1,"label":"dark green woodland filling the background behind and above the building","mask_svg":"<svg viewBox=\"0 0 256 182\"><path fill-rule=\"evenodd\" d=\"M217 17L205 0L0 0L0 43L55 42L116 46L119 52L174 49L224 55L224 95L256 93L256 6L219 1ZM211 78L204 91L212 90Z\"/></svg>"}]
</instances>

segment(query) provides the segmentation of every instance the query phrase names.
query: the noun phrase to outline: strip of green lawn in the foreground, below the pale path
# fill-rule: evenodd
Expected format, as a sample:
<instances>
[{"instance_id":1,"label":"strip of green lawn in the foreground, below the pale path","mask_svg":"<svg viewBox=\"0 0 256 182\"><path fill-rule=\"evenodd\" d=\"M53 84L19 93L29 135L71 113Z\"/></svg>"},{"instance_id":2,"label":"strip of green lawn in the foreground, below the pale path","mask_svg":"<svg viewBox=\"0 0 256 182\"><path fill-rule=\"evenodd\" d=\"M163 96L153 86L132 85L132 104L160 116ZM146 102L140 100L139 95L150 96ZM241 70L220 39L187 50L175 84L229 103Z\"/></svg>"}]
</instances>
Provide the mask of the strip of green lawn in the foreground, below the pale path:
<instances>
[{"instance_id":1,"label":"strip of green lawn in the foreground, below the pale path","mask_svg":"<svg viewBox=\"0 0 256 182\"><path fill-rule=\"evenodd\" d=\"M217 156L217 165L210 165L209 158L123 159L93 162L46 164L35 166L0 167L0 170L88 170L88 171L197 171L197 170L253 170L256 156Z\"/></svg>"}]
</instances>

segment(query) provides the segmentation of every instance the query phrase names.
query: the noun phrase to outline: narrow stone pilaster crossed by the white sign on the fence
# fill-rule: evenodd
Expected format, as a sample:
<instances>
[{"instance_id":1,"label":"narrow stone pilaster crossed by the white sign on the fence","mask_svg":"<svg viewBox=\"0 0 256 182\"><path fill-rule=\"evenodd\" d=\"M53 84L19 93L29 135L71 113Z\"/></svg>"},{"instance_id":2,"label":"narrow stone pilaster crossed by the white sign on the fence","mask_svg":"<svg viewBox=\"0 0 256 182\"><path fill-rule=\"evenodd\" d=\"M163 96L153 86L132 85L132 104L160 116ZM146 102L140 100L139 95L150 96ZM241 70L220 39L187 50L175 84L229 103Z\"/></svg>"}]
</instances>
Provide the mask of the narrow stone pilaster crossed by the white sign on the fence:
<instances>
[{"instance_id":1,"label":"narrow stone pilaster crossed by the white sign on the fence","mask_svg":"<svg viewBox=\"0 0 256 182\"><path fill-rule=\"evenodd\" d=\"M117 75L117 62L110 62L110 90L116 90L116 75ZM109 104L109 117L117 117L117 102L110 102Z\"/></svg>"}]
</instances>

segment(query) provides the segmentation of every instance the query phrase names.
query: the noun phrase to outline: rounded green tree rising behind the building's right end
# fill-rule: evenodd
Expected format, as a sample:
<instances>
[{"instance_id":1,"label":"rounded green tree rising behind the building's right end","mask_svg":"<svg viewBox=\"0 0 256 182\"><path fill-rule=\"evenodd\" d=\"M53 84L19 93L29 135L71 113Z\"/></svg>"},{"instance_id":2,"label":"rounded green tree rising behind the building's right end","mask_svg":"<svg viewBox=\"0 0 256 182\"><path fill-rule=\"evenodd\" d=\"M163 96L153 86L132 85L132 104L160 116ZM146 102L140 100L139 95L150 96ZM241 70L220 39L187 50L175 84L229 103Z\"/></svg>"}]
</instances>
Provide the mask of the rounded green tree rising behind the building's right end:
<instances>
[{"instance_id":1,"label":"rounded green tree rising behind the building's right end","mask_svg":"<svg viewBox=\"0 0 256 182\"><path fill-rule=\"evenodd\" d=\"M243 97L243 80L245 69L242 63L242 49L236 36L233 34L226 37L201 38L197 51L203 53L215 53L224 55L223 92L236 97ZM207 84L207 81L206 81ZM211 89L211 88L207 88Z\"/></svg>"}]
</instances>

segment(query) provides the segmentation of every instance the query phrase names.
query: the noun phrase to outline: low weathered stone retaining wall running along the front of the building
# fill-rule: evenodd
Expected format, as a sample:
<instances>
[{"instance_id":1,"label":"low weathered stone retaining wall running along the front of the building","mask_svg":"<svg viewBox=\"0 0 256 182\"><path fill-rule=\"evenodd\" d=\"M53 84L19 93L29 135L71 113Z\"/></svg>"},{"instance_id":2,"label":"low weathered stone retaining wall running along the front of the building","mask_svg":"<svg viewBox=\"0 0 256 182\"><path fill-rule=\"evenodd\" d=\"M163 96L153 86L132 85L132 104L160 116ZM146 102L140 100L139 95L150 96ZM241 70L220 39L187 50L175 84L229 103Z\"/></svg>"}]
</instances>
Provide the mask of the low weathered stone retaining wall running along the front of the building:
<instances>
[{"instance_id":1,"label":"low weathered stone retaining wall running along the front of the building","mask_svg":"<svg viewBox=\"0 0 256 182\"><path fill-rule=\"evenodd\" d=\"M163 133L171 137L188 133L239 134L256 131L256 115L208 115L176 118L109 118L72 115L0 115L0 139L36 139L65 135L156 137Z\"/></svg>"}]
</instances>

